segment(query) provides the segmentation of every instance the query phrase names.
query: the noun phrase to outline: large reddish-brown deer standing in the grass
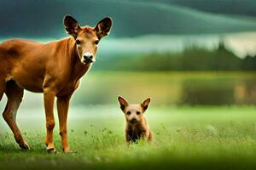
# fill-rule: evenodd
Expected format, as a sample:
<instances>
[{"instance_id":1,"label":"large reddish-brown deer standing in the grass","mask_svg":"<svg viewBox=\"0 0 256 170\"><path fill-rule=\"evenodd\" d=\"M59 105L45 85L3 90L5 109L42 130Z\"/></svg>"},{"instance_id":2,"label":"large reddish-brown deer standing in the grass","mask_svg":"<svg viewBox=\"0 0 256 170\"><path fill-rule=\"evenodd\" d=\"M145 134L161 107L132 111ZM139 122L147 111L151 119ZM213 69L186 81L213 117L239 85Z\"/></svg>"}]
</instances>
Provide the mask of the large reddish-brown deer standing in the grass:
<instances>
[{"instance_id":1,"label":"large reddish-brown deer standing in the grass","mask_svg":"<svg viewBox=\"0 0 256 170\"><path fill-rule=\"evenodd\" d=\"M29 146L15 120L24 89L44 93L45 144L49 152L56 151L53 129L54 101L57 98L62 148L65 153L70 152L67 143L69 100L79 87L79 79L96 61L98 42L108 35L112 20L105 18L95 27L81 27L72 16L66 15L64 26L72 37L48 43L12 39L0 44L0 100L4 93L8 98L3 118L20 148L25 150Z\"/></svg>"}]
</instances>

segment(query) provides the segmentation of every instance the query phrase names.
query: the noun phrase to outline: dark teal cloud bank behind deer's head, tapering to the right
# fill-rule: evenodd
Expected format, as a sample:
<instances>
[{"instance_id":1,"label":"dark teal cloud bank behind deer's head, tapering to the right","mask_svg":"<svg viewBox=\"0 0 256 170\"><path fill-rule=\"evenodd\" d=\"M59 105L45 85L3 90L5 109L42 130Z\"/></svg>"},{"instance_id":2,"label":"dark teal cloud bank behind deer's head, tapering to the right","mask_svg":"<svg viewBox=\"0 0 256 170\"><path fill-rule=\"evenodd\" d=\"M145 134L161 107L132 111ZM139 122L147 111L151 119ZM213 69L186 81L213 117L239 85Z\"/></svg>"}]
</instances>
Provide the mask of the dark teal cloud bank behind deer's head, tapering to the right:
<instances>
[{"instance_id":1,"label":"dark teal cloud bank behind deer's head, tapering to the right","mask_svg":"<svg viewBox=\"0 0 256 170\"><path fill-rule=\"evenodd\" d=\"M154 3L106 0L9 0L0 2L1 37L66 36L65 14L73 14L81 25L95 26L105 16L113 17L112 37L144 34L190 34L224 31L252 31L250 20L216 20L211 16L185 12L183 8ZM207 2L207 0L206 0ZM206 20L207 19L207 20ZM211 21L212 20L212 21Z\"/></svg>"}]
</instances>

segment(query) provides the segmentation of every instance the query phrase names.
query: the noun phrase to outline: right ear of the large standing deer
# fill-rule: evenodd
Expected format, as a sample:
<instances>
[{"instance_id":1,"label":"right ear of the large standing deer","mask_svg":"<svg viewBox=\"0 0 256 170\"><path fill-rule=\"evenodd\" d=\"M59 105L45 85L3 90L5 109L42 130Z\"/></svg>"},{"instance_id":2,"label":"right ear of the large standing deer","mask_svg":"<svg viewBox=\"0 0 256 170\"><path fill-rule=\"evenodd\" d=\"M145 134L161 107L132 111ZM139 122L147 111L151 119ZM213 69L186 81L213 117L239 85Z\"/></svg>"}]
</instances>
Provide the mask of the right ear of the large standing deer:
<instances>
[{"instance_id":1,"label":"right ear of the large standing deer","mask_svg":"<svg viewBox=\"0 0 256 170\"><path fill-rule=\"evenodd\" d=\"M99 39L104 36L107 36L110 32L112 26L112 20L109 17L106 17L98 22L94 30L96 31L96 35Z\"/></svg>"}]
</instances>

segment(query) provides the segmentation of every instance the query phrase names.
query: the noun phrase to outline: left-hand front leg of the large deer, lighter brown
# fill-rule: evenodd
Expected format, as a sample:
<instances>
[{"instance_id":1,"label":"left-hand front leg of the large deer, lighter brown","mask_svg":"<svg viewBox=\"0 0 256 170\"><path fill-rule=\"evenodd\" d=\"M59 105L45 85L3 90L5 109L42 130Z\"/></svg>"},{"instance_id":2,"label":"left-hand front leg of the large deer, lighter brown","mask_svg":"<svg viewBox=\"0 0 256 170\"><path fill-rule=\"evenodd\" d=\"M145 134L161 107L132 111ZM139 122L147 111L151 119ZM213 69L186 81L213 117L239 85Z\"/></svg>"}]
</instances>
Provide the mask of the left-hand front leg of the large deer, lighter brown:
<instances>
[{"instance_id":1,"label":"left-hand front leg of the large deer, lighter brown","mask_svg":"<svg viewBox=\"0 0 256 170\"><path fill-rule=\"evenodd\" d=\"M55 117L54 117L54 101L55 101L55 91L47 88L44 89L44 110L46 118L46 138L45 144L47 146L47 151L49 153L55 153L55 145L53 142L53 129L55 127Z\"/></svg>"}]
</instances>

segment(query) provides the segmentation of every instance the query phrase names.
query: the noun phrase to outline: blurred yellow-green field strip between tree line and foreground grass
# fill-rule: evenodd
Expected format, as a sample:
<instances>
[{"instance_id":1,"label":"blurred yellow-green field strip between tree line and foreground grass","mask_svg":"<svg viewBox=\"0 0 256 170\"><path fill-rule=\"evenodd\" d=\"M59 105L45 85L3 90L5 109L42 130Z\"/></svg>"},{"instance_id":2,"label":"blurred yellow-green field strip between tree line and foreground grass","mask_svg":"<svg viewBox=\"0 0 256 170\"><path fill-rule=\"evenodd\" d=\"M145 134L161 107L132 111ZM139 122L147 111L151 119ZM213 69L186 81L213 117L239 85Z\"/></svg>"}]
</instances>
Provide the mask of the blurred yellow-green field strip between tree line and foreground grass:
<instances>
[{"instance_id":1,"label":"blurred yellow-green field strip between tree line and foreground grass","mask_svg":"<svg viewBox=\"0 0 256 170\"><path fill-rule=\"evenodd\" d=\"M73 94L72 105L114 105L122 95L132 102L148 96L153 105L255 105L256 72L90 71ZM42 94L26 91L22 106L42 105ZM0 102L5 105L5 102Z\"/></svg>"}]
</instances>

